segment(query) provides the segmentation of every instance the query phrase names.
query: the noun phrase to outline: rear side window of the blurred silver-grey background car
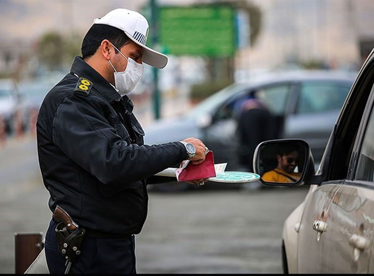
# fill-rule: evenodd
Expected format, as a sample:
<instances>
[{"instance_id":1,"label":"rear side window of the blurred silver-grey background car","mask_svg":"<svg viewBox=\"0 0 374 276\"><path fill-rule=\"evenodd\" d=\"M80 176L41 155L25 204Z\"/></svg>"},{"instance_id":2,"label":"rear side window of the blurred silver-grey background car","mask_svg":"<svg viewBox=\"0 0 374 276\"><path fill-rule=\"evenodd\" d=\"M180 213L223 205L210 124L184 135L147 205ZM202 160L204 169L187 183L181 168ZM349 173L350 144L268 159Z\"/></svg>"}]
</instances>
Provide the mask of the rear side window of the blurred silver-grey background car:
<instances>
[{"instance_id":1,"label":"rear side window of the blurred silver-grey background car","mask_svg":"<svg viewBox=\"0 0 374 276\"><path fill-rule=\"evenodd\" d=\"M340 110L350 86L334 83L304 83L301 85L297 113L318 113Z\"/></svg>"}]
</instances>

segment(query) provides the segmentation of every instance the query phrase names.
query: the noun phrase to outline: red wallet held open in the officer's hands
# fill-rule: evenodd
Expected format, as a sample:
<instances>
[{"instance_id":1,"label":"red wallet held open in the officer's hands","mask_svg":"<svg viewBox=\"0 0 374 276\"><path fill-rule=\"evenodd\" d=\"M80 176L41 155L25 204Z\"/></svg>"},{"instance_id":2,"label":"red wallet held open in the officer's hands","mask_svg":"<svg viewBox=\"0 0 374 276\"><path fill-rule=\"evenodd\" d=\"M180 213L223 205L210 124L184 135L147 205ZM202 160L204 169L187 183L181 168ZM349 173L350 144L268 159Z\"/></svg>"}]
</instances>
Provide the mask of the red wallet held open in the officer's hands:
<instances>
[{"instance_id":1,"label":"red wallet held open in the officer's hands","mask_svg":"<svg viewBox=\"0 0 374 276\"><path fill-rule=\"evenodd\" d=\"M214 155L212 151L209 151L206 154L205 160L202 163L194 165L191 162L188 162L187 166L183 167L175 171L178 182L216 176L214 169Z\"/></svg>"}]
</instances>

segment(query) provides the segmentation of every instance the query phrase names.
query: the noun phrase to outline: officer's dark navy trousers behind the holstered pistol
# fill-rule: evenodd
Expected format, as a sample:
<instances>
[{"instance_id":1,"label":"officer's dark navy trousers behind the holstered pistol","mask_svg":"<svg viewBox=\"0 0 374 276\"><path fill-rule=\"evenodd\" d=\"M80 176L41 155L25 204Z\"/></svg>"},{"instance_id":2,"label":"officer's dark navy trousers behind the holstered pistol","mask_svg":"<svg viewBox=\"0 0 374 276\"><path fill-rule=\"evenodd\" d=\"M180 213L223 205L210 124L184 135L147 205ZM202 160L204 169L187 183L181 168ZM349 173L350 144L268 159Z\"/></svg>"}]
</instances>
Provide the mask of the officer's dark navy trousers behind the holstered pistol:
<instances>
[{"instance_id":1,"label":"officer's dark navy trousers behind the holstered pistol","mask_svg":"<svg viewBox=\"0 0 374 276\"><path fill-rule=\"evenodd\" d=\"M65 272L66 260L58 251L55 237L56 223L51 220L45 237L45 254L51 274ZM135 236L129 238L83 239L82 253L71 265L70 273L126 273L136 274Z\"/></svg>"}]
</instances>

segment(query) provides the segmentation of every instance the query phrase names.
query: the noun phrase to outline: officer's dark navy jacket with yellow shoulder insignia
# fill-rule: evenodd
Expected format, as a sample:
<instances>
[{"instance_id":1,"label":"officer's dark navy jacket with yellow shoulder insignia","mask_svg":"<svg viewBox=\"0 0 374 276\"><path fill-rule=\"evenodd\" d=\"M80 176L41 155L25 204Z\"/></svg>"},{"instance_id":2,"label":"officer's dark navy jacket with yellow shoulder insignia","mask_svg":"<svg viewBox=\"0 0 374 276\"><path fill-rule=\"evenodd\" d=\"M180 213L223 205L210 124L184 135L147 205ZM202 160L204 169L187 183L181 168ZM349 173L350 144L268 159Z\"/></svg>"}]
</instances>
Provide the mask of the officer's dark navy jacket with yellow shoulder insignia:
<instances>
[{"instance_id":1,"label":"officer's dark navy jacket with yellow shoulder insignia","mask_svg":"<svg viewBox=\"0 0 374 276\"><path fill-rule=\"evenodd\" d=\"M132 109L77 56L40 107L38 155L49 208L61 206L99 236L139 233L147 216L145 179L187 159L179 142L143 145Z\"/></svg>"}]
</instances>

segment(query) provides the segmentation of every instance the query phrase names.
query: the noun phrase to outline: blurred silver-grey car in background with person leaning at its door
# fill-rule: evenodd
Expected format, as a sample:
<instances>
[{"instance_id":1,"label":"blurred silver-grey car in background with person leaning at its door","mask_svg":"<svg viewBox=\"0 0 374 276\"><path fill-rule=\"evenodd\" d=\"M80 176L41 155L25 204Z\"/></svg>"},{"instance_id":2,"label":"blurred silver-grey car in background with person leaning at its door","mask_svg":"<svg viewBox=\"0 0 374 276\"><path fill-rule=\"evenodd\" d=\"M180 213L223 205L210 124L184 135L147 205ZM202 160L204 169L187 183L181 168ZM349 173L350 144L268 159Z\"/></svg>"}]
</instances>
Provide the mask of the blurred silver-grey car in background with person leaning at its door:
<instances>
[{"instance_id":1,"label":"blurred silver-grey car in background with person leaning at its door","mask_svg":"<svg viewBox=\"0 0 374 276\"><path fill-rule=\"evenodd\" d=\"M235 108L251 94L263 100L275 116L278 137L305 139L318 163L354 78L349 72L297 71L232 84L188 114L153 124L145 130L145 143L194 136L214 151L216 163L228 162L227 170L245 170L237 155Z\"/></svg>"}]
</instances>

